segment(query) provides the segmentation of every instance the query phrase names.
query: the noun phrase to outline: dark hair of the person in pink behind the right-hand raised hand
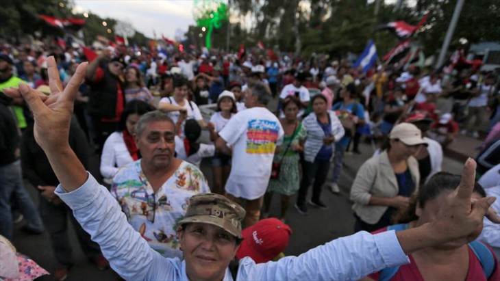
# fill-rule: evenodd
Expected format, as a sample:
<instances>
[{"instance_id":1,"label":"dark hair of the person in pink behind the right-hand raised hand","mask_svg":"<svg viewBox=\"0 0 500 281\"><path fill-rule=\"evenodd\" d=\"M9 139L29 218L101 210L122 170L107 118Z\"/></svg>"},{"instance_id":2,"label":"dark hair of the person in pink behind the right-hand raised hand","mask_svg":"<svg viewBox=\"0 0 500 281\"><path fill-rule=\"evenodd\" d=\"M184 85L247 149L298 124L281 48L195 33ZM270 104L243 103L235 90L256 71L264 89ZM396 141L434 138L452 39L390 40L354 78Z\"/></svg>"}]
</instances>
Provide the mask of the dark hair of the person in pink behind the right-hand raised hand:
<instances>
[{"instance_id":1,"label":"dark hair of the person in pink behind the right-hand raised hand","mask_svg":"<svg viewBox=\"0 0 500 281\"><path fill-rule=\"evenodd\" d=\"M427 202L437 198L440 194L446 191L451 192L455 190L458 185L460 185L460 180L460 176L449 172L438 172L434 174L423 187L413 193L410 197L410 205L405 209L401 209L401 211L395 215L394 219L392 219L393 223L406 224L418 219L416 216L417 203L423 208ZM486 192L479 183L474 183L473 193L478 193L482 197L486 197Z\"/></svg>"}]
</instances>

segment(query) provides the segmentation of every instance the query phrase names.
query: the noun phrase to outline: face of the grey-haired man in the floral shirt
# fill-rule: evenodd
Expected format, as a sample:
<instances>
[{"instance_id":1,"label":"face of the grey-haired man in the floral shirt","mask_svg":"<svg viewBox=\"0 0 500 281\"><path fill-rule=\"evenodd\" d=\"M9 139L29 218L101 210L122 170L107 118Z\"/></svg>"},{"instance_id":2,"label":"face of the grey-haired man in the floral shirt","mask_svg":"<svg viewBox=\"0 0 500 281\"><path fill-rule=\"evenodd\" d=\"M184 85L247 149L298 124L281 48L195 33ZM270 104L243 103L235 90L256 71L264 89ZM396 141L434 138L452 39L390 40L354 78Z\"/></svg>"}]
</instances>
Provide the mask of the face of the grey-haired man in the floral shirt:
<instances>
[{"instance_id":1,"label":"face of the grey-haired man in the floral shirt","mask_svg":"<svg viewBox=\"0 0 500 281\"><path fill-rule=\"evenodd\" d=\"M168 168L175 154L175 129L171 122L153 121L135 135L142 164L151 168Z\"/></svg>"}]
</instances>

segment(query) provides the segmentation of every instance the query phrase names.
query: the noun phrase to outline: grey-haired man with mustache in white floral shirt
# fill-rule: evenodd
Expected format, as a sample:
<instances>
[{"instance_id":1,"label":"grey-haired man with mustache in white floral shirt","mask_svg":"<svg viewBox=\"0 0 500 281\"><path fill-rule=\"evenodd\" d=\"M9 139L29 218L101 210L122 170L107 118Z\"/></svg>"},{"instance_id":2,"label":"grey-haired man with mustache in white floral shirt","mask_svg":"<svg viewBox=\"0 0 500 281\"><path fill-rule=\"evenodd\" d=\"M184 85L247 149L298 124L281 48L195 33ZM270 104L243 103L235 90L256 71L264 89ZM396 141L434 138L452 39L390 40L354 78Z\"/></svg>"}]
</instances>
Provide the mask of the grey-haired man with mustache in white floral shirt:
<instances>
[{"instance_id":1,"label":"grey-haired man with mustache in white floral shirt","mask_svg":"<svg viewBox=\"0 0 500 281\"><path fill-rule=\"evenodd\" d=\"M174 158L175 133L166 113L151 111L141 116L134 140L142 159L121 168L111 189L129 224L167 257L182 256L176 224L186 215L189 198L210 192L195 165Z\"/></svg>"}]
</instances>

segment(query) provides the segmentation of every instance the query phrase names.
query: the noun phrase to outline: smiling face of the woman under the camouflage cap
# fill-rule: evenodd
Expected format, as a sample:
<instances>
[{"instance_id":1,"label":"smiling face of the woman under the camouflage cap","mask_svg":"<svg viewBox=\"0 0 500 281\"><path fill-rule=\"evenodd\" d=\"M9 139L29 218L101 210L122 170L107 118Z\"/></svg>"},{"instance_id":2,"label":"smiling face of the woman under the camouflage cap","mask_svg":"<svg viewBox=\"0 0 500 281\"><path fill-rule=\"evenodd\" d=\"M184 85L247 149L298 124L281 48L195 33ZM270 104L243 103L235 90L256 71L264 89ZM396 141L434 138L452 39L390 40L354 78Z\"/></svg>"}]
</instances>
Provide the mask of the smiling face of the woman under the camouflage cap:
<instances>
[{"instance_id":1,"label":"smiling face of the woman under the camouflage cap","mask_svg":"<svg viewBox=\"0 0 500 281\"><path fill-rule=\"evenodd\" d=\"M188 224L177 230L186 274L190 280L222 280L225 270L236 255L236 237L211 224Z\"/></svg>"}]
</instances>

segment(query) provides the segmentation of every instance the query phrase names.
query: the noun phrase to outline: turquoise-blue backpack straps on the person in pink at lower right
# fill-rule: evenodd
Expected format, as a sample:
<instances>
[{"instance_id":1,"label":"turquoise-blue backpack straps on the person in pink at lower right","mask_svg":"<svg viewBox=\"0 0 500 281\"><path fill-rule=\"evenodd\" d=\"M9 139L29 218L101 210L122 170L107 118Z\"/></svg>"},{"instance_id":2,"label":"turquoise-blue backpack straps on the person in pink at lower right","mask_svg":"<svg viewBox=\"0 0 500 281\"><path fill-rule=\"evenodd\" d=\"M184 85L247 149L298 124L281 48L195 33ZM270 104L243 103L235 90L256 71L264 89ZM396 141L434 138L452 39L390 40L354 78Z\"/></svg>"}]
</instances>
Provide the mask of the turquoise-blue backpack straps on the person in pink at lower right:
<instances>
[{"instance_id":1,"label":"turquoise-blue backpack straps on the person in pink at lower right","mask_svg":"<svg viewBox=\"0 0 500 281\"><path fill-rule=\"evenodd\" d=\"M405 230L408 229L408 224L394 224L392 226L388 226L387 230ZM475 256L481 263L481 267L483 268L484 275L486 279L490 278L493 273L493 269L495 269L495 258L491 251L479 241L472 241L468 243L468 247L471 248L472 252L474 252ZM389 281L390 278L394 277L399 270L398 267L386 267L380 271L379 281Z\"/></svg>"}]
</instances>

